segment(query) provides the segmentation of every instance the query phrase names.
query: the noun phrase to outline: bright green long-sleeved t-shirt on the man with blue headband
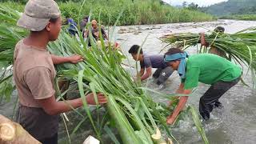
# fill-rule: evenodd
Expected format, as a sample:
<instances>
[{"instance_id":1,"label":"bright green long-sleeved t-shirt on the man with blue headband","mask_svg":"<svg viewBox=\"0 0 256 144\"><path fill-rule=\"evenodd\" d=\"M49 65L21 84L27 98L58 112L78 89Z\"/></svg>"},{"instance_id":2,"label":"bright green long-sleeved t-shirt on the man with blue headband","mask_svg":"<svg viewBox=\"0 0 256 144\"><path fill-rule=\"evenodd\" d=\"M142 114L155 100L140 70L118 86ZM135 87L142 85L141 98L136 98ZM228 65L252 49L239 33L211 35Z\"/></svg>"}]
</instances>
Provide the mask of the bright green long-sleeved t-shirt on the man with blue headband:
<instances>
[{"instance_id":1,"label":"bright green long-sleeved t-shirt on the man with blue headband","mask_svg":"<svg viewBox=\"0 0 256 144\"><path fill-rule=\"evenodd\" d=\"M186 78L184 89L198 86L198 82L209 85L218 81L230 82L242 74L240 66L215 54L196 54L186 61Z\"/></svg>"}]
</instances>

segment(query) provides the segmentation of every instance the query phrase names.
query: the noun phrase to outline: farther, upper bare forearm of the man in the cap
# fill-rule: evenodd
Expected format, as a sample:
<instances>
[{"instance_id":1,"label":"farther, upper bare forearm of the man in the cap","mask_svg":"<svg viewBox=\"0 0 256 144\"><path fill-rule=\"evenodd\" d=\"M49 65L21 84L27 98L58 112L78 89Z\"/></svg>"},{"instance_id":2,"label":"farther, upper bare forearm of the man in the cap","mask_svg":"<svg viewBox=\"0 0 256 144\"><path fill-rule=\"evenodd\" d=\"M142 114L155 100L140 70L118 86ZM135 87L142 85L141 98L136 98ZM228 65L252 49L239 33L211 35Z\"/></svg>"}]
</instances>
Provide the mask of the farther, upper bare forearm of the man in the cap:
<instances>
[{"instance_id":1,"label":"farther, upper bare forearm of the man in the cap","mask_svg":"<svg viewBox=\"0 0 256 144\"><path fill-rule=\"evenodd\" d=\"M82 56L80 55L72 55L70 57L60 57L54 54L50 54L50 57L54 63L54 65L58 65L61 63L66 63L66 62L70 62L70 63L78 63L78 62L82 62Z\"/></svg>"}]
</instances>

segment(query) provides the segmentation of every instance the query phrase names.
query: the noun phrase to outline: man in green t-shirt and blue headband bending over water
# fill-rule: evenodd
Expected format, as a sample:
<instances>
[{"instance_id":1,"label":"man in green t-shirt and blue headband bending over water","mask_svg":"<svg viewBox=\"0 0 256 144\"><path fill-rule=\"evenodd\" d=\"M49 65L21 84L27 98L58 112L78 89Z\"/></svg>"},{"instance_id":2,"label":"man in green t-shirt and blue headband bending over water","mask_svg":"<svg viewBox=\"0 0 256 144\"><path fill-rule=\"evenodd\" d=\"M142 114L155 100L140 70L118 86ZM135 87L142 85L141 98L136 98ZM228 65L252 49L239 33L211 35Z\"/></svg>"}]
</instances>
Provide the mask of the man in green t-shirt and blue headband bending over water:
<instances>
[{"instance_id":1,"label":"man in green t-shirt and blue headband bending over water","mask_svg":"<svg viewBox=\"0 0 256 144\"><path fill-rule=\"evenodd\" d=\"M236 85L242 75L239 66L215 54L196 54L188 58L186 52L172 48L166 52L165 62L173 70L177 70L182 78L177 94L190 94L191 90L198 86L198 82L211 85L199 102L199 111L205 120L210 118L214 106L221 106L218 99ZM179 98L178 106L167 118L167 124L175 121L185 106L188 96L176 98Z\"/></svg>"}]
</instances>

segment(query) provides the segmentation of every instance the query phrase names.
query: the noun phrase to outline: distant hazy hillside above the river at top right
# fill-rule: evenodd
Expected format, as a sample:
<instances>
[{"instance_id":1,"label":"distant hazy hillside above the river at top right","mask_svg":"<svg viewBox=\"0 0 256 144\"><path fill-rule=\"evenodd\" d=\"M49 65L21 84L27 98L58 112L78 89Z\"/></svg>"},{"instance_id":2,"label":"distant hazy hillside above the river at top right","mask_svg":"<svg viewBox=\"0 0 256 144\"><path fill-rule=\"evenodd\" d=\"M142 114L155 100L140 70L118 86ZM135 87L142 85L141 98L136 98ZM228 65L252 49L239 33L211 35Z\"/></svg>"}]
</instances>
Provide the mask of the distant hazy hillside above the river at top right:
<instances>
[{"instance_id":1,"label":"distant hazy hillside above the river at top right","mask_svg":"<svg viewBox=\"0 0 256 144\"><path fill-rule=\"evenodd\" d=\"M221 16L221 18L256 20L255 0L229 0L202 8L202 10L206 13Z\"/></svg>"}]
</instances>

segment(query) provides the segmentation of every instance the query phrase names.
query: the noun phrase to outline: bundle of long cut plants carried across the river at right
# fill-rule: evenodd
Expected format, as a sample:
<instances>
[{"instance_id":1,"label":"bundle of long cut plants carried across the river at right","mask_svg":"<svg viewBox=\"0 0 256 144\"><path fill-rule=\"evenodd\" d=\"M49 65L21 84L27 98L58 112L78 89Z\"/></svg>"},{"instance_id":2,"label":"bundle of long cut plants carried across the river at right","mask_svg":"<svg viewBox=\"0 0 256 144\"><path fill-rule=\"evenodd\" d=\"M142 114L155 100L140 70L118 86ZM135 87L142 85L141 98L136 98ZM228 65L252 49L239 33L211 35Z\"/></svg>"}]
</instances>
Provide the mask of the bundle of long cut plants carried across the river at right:
<instances>
[{"instance_id":1,"label":"bundle of long cut plants carried across the river at right","mask_svg":"<svg viewBox=\"0 0 256 144\"><path fill-rule=\"evenodd\" d=\"M171 47L182 47L183 50L190 46L198 46L200 43L201 34L181 33L169 34L163 36L162 42L168 43ZM246 30L241 30L235 34L223 34L212 32L205 34L208 47L201 46L199 53L207 53L211 47L221 51L229 60L240 64L242 67L248 67L251 70L254 83L256 70L256 27L250 27Z\"/></svg>"}]
</instances>

